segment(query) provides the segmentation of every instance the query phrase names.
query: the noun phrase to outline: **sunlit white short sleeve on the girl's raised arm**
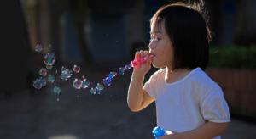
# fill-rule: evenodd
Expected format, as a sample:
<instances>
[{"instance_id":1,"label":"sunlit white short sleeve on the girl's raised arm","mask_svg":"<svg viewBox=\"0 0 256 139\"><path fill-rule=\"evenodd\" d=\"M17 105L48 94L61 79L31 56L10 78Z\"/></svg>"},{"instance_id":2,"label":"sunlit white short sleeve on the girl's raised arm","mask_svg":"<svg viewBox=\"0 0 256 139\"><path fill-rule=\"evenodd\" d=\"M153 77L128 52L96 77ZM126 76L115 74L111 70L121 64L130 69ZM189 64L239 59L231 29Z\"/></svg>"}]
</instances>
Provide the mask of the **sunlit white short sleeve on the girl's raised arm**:
<instances>
[{"instance_id":1,"label":"sunlit white short sleeve on the girl's raised arm","mask_svg":"<svg viewBox=\"0 0 256 139\"><path fill-rule=\"evenodd\" d=\"M153 97L155 100L155 91L154 91L154 86L156 85L156 81L157 81L157 76L159 76L160 74L160 70L156 71L153 75L150 76L150 78L148 79L148 81L144 84L143 89L148 92L148 95L150 97Z\"/></svg>"}]
</instances>

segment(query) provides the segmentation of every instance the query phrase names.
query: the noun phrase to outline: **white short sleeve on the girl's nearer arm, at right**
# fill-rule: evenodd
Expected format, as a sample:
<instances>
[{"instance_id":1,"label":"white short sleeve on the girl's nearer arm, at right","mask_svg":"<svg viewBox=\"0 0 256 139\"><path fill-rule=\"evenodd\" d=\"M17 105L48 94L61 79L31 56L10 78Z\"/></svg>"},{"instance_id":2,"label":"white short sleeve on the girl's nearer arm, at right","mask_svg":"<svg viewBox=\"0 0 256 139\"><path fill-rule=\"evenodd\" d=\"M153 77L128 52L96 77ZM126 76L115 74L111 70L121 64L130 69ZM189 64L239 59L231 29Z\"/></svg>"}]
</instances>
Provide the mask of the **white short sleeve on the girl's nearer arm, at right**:
<instances>
[{"instance_id":1,"label":"white short sleeve on the girl's nearer arm, at right","mask_svg":"<svg viewBox=\"0 0 256 139\"><path fill-rule=\"evenodd\" d=\"M230 121L229 106L219 87L214 87L214 89L201 100L201 114L205 120L215 123Z\"/></svg>"}]
</instances>

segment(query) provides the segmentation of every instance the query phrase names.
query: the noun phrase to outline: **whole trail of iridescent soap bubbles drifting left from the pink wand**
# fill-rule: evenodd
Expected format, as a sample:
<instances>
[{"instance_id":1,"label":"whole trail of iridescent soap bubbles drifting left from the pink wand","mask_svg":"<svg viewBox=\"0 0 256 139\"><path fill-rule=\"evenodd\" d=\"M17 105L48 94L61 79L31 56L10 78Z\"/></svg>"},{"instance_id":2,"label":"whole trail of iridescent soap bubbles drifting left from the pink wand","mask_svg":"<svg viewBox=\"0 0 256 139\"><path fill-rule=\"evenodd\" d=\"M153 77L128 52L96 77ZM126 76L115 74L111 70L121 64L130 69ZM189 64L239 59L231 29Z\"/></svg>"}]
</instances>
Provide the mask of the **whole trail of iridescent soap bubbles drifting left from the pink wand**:
<instances>
[{"instance_id":1,"label":"whole trail of iridescent soap bubbles drifting left from the pink wand","mask_svg":"<svg viewBox=\"0 0 256 139\"><path fill-rule=\"evenodd\" d=\"M49 44L49 47L51 47L51 45ZM41 52L43 49L43 47L41 45L37 45L35 50L37 52ZM39 71L39 74L42 76L46 76L47 75L47 69L52 69L53 64L55 64L56 61L56 57L54 53L47 53L44 55L44 64L46 64L46 69L42 68ZM62 80L67 81L68 78L70 78L73 75L73 72L75 73L79 73L80 72L80 67L78 65L74 65L73 66L73 71L71 69L67 69L66 67L62 66L61 67L61 75L60 78ZM125 74L125 70L129 70L131 69L131 64L125 65L124 68L119 68L119 74L120 75L124 75ZM55 70L55 73L58 73L57 70ZM110 72L110 74L107 76L106 79L103 79L103 84L105 86L110 86L111 81L113 79L114 76L116 76L117 73L116 72ZM49 75L47 80L45 78L40 77L39 79L36 79L35 81L33 81L33 86L37 89L42 88L42 86L46 86L47 81L49 83L53 83L55 81L55 77L54 75ZM91 83L92 84L92 83ZM88 88L90 86L90 81L87 81L86 79L79 80L79 79L75 79L73 81L73 87L76 89L80 89L80 88ZM90 93L92 94L100 94L102 92L102 90L104 89L104 86L100 83L97 84L97 86L95 88L91 87L90 89ZM54 92L55 93L60 93L61 92L61 88L55 86L54 87Z\"/></svg>"}]
</instances>

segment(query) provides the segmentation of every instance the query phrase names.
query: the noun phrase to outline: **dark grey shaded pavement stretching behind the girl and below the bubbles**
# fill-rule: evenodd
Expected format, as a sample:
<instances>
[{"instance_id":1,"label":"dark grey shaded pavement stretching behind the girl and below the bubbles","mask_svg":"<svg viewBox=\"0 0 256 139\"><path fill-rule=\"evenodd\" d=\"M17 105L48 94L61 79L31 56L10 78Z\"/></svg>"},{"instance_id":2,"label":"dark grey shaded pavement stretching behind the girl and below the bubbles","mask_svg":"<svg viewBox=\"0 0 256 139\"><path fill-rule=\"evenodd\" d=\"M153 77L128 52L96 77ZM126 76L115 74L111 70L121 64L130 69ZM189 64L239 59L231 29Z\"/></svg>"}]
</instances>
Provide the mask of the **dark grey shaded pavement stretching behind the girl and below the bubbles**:
<instances>
[{"instance_id":1,"label":"dark grey shaded pavement stretching behind the girl and below the bubbles","mask_svg":"<svg viewBox=\"0 0 256 139\"><path fill-rule=\"evenodd\" d=\"M90 87L102 83L110 71L88 72L81 68L79 74L73 73L63 81L58 77L61 67L55 69L48 72L55 75L54 83L0 100L0 139L154 139L155 103L140 112L128 108L130 70L114 77L111 86L105 86L101 94L93 95ZM145 81L151 72L154 69ZM90 81L90 87L75 89L72 83L75 78L82 79L82 75ZM54 86L61 88L60 94L53 92ZM256 124L231 114L230 128L221 136L255 139Z\"/></svg>"}]
</instances>

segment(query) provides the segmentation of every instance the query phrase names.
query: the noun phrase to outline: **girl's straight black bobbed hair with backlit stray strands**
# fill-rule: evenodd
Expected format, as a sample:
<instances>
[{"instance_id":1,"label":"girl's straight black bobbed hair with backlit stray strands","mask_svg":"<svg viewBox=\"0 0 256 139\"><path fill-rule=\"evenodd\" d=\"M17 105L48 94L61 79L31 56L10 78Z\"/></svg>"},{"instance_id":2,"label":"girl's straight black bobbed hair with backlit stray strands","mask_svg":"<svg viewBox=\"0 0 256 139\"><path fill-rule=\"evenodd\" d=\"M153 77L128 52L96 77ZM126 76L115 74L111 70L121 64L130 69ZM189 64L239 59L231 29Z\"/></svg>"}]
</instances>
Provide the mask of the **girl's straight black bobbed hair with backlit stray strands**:
<instances>
[{"instance_id":1,"label":"girl's straight black bobbed hair with backlit stray strands","mask_svg":"<svg viewBox=\"0 0 256 139\"><path fill-rule=\"evenodd\" d=\"M174 49L172 70L207 68L212 36L203 6L203 1L172 3L161 7L150 19L150 26L160 26L160 22L165 21L166 33Z\"/></svg>"}]
</instances>

